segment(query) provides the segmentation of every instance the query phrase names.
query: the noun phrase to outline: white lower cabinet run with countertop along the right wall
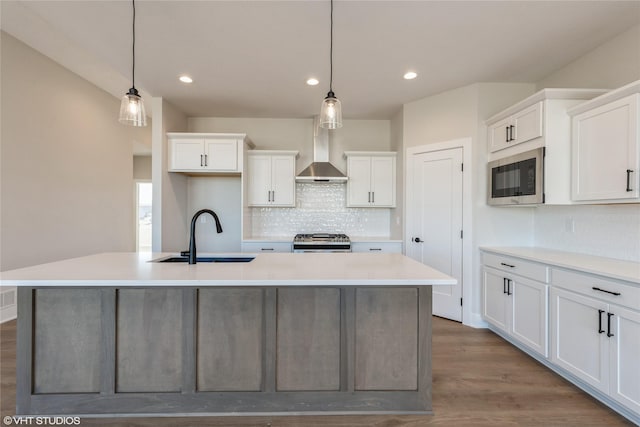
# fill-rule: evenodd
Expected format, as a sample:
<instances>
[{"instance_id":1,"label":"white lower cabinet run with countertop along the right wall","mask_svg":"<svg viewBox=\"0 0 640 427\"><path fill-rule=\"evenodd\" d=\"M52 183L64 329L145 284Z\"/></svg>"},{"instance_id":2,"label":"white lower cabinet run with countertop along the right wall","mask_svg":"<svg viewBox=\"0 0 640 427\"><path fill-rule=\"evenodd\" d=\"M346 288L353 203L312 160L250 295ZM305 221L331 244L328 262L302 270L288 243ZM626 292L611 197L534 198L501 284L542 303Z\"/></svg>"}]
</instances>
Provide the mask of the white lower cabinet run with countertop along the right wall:
<instances>
[{"instance_id":1,"label":"white lower cabinet run with countertop along the right wall","mask_svg":"<svg viewBox=\"0 0 640 427\"><path fill-rule=\"evenodd\" d=\"M532 350L527 352L640 425L637 263L545 249L508 249L506 253L483 250L483 319L507 340ZM520 253L523 258L517 257Z\"/></svg>"}]
</instances>

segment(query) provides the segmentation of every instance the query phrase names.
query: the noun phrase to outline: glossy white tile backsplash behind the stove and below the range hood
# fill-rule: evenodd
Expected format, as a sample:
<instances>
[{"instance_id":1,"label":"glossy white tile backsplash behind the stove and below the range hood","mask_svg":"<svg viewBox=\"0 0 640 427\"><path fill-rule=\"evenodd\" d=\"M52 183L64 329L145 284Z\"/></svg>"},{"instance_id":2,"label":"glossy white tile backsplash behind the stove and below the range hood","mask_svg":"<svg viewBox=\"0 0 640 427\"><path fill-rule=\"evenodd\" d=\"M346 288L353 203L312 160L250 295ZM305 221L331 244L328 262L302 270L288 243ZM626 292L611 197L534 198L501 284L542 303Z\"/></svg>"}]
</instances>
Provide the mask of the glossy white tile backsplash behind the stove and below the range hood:
<instances>
[{"instance_id":1,"label":"glossy white tile backsplash behind the stove and below the range hood","mask_svg":"<svg viewBox=\"0 0 640 427\"><path fill-rule=\"evenodd\" d=\"M297 183L295 208L250 208L251 237L344 233L389 237L390 209L347 208L345 184Z\"/></svg>"}]
</instances>

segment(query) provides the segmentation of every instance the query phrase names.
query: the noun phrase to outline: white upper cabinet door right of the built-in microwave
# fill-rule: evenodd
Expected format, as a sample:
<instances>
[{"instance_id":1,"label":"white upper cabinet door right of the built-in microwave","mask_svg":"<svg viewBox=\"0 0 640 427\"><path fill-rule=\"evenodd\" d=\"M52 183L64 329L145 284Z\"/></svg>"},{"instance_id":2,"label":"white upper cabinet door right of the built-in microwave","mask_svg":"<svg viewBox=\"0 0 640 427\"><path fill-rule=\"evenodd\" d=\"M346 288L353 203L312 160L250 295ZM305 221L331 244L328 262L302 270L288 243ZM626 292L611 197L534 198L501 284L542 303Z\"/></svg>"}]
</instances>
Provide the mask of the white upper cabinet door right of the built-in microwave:
<instances>
[{"instance_id":1,"label":"white upper cabinet door right of the built-in microwave","mask_svg":"<svg viewBox=\"0 0 640 427\"><path fill-rule=\"evenodd\" d=\"M639 99L640 95L632 95L573 118L573 200L640 197Z\"/></svg>"}]
</instances>

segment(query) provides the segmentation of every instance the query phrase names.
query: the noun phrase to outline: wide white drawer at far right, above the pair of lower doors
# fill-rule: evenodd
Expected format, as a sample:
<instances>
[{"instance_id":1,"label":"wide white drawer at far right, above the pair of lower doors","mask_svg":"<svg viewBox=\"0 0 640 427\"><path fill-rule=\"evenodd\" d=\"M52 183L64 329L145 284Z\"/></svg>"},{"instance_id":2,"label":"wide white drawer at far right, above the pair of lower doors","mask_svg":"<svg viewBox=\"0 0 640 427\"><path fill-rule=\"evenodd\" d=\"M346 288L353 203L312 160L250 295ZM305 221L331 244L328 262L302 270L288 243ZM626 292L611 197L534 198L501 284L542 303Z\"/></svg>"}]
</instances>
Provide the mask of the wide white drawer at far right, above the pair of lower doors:
<instances>
[{"instance_id":1,"label":"wide white drawer at far right, above the pair of lower doors","mask_svg":"<svg viewBox=\"0 0 640 427\"><path fill-rule=\"evenodd\" d=\"M640 286L560 268L551 270L551 284L601 301L640 309Z\"/></svg>"}]
</instances>

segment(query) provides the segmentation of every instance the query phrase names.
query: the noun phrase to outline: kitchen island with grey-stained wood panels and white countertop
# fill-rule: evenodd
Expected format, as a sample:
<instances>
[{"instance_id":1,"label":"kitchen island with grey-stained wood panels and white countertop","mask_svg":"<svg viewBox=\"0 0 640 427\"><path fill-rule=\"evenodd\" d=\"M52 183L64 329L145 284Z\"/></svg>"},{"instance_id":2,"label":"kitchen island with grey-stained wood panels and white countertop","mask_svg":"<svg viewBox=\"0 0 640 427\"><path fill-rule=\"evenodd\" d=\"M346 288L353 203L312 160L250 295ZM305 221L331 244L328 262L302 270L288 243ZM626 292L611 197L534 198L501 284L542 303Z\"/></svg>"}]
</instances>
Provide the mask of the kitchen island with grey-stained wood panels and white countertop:
<instances>
[{"instance_id":1,"label":"kitchen island with grey-stained wood panels and white countertop","mask_svg":"<svg viewBox=\"0 0 640 427\"><path fill-rule=\"evenodd\" d=\"M431 413L431 287L400 254L13 270L17 414ZM247 256L247 254L242 254Z\"/></svg>"}]
</instances>

